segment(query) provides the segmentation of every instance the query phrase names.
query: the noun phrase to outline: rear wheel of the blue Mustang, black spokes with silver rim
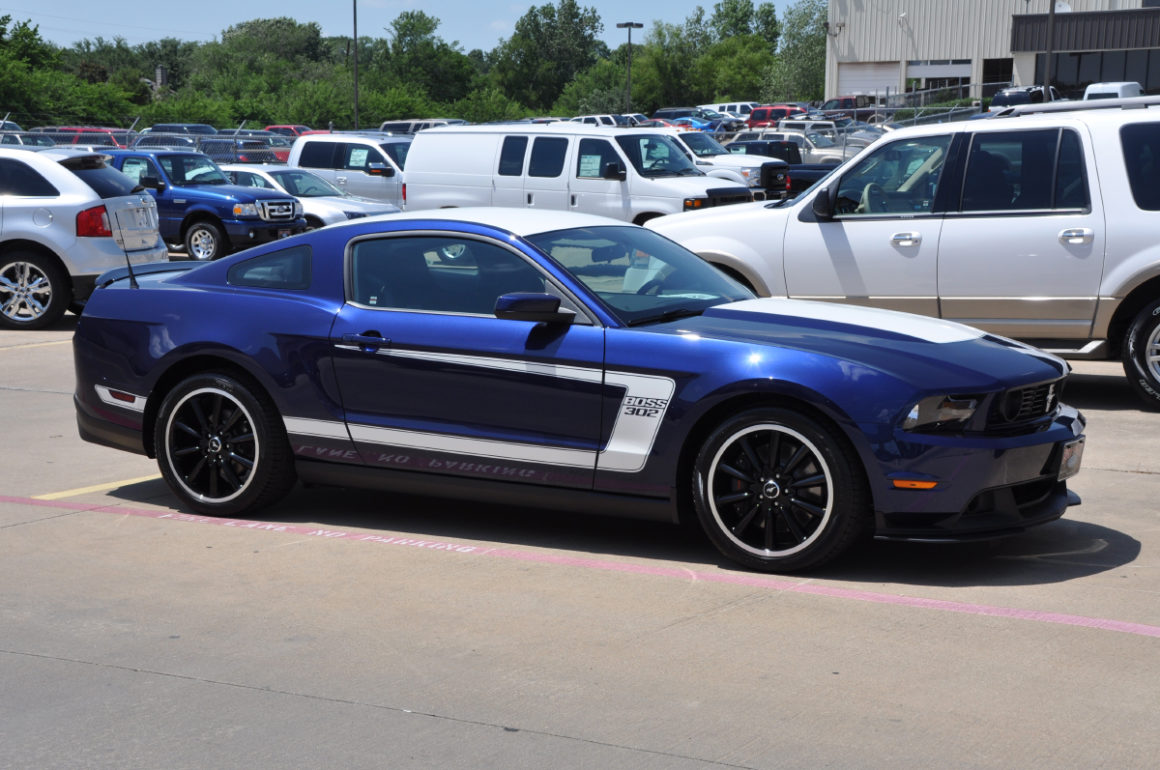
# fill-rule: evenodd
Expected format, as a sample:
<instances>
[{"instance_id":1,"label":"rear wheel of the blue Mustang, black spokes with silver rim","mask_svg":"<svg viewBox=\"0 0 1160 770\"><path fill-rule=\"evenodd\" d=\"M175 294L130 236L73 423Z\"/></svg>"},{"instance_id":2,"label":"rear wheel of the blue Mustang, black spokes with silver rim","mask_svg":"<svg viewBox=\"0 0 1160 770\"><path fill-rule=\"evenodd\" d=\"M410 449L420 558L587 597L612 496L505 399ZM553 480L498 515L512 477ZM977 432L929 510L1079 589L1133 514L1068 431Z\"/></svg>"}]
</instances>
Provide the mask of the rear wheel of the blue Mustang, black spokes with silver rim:
<instances>
[{"instance_id":1,"label":"rear wheel of the blue Mustang, black spokes with silver rim","mask_svg":"<svg viewBox=\"0 0 1160 770\"><path fill-rule=\"evenodd\" d=\"M154 426L157 464L182 503L238 516L282 499L293 456L275 406L255 385L195 375L166 394Z\"/></svg>"}]
</instances>

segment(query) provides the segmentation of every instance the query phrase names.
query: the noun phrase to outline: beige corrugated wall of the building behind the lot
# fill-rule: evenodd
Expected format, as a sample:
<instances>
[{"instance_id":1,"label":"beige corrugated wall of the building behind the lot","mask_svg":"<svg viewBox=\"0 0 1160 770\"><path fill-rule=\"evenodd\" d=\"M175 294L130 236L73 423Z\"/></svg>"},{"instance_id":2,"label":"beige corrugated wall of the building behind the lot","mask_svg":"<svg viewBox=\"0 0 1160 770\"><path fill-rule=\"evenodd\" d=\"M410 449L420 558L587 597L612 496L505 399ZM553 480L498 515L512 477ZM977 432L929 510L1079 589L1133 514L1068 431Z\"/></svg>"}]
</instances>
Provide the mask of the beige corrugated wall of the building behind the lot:
<instances>
[{"instance_id":1,"label":"beige corrugated wall of the building behind the lot","mask_svg":"<svg viewBox=\"0 0 1160 770\"><path fill-rule=\"evenodd\" d=\"M1045 14L1056 0L829 0L826 97L838 96L841 64L893 61L894 92L906 87L906 61L970 59L981 82L983 60L1012 58L1012 16ZM1067 0L1073 12L1128 10L1141 0ZM1057 13L1059 9L1057 7ZM1034 55L1014 57L1015 81L1030 85ZM1027 61L1030 60L1030 71Z\"/></svg>"}]
</instances>

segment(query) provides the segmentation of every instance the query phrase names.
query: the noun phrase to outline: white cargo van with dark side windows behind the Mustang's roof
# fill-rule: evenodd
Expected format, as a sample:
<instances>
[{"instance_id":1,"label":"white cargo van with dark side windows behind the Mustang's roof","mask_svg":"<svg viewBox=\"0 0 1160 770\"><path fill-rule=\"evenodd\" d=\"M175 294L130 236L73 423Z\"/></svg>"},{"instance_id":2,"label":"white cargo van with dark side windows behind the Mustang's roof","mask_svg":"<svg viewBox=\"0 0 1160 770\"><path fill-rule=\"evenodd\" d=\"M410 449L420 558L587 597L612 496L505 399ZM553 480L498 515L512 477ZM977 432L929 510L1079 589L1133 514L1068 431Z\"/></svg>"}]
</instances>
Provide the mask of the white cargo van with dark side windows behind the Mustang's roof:
<instances>
[{"instance_id":1,"label":"white cargo van with dark side windows behind the Mustang's roof","mask_svg":"<svg viewBox=\"0 0 1160 770\"><path fill-rule=\"evenodd\" d=\"M458 206L557 209L643 223L753 199L706 176L665 132L583 123L428 129L407 154L408 211Z\"/></svg>"}]
</instances>

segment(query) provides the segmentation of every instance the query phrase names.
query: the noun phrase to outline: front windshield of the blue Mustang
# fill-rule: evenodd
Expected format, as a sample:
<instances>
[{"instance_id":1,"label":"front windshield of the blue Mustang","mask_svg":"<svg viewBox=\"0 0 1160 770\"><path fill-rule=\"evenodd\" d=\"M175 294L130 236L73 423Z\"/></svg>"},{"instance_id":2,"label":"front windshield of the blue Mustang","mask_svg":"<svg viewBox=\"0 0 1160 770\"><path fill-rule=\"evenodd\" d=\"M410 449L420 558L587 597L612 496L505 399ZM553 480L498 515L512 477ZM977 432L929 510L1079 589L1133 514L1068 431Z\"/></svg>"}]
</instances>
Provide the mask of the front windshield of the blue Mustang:
<instances>
[{"instance_id":1,"label":"front windshield of the blue Mustang","mask_svg":"<svg viewBox=\"0 0 1160 770\"><path fill-rule=\"evenodd\" d=\"M753 298L696 254L643 227L577 227L527 240L628 326L699 315L713 305Z\"/></svg>"}]
</instances>

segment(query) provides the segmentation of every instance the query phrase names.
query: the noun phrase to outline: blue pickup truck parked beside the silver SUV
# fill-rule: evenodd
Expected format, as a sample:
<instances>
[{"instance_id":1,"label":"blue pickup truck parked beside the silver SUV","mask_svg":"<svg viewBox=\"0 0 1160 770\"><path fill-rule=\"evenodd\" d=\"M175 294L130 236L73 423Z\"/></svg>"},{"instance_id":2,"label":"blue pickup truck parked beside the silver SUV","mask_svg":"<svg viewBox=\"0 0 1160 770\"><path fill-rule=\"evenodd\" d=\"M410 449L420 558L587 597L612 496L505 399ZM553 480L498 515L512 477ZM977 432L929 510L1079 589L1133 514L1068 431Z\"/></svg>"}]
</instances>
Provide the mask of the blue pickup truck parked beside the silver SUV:
<instances>
[{"instance_id":1,"label":"blue pickup truck parked beside the silver SUV","mask_svg":"<svg viewBox=\"0 0 1160 770\"><path fill-rule=\"evenodd\" d=\"M284 192L230 184L209 157L182 150L109 151L115 168L157 199L161 237L191 260L216 260L306 230L302 203Z\"/></svg>"}]
</instances>

